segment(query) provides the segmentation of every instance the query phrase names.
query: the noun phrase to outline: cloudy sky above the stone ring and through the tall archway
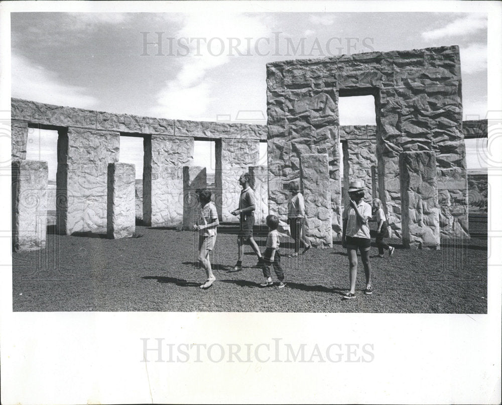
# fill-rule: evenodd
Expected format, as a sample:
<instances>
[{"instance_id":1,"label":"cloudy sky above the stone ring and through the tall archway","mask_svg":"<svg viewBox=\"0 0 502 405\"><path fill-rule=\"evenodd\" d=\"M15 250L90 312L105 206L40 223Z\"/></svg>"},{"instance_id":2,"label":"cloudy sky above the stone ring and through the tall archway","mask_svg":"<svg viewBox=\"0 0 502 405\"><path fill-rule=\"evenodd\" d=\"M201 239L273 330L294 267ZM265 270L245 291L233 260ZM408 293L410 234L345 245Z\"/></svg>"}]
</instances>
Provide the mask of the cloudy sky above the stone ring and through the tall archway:
<instances>
[{"instance_id":1,"label":"cloudy sky above the stone ring and through the tall archway","mask_svg":"<svg viewBox=\"0 0 502 405\"><path fill-rule=\"evenodd\" d=\"M485 14L13 13L11 34L12 96L44 103L266 123L268 62L458 45L464 119L487 108ZM341 124L375 122L371 97L339 107Z\"/></svg>"}]
</instances>

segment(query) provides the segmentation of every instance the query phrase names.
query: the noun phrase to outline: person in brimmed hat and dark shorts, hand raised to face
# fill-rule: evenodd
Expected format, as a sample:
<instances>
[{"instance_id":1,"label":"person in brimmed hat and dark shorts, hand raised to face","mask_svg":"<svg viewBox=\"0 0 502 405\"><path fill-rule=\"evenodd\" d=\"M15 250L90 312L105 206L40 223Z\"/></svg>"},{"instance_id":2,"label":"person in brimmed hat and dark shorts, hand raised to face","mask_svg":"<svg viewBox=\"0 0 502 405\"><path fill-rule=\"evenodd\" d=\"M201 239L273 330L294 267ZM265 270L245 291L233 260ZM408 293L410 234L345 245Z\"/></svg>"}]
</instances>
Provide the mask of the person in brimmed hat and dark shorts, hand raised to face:
<instances>
[{"instance_id":1,"label":"person in brimmed hat and dark shorts, hand raised to face","mask_svg":"<svg viewBox=\"0 0 502 405\"><path fill-rule=\"evenodd\" d=\"M366 276L366 288L364 294L372 294L371 287L371 264L369 262L369 226L368 220L371 219L371 206L364 202L364 184L362 181L350 182L348 195L349 204L343 211L343 230L342 246L347 248L349 260L349 281L350 291L343 296L343 299L349 300L355 298L355 281L357 278L357 249L361 253L361 260L364 266L364 275Z\"/></svg>"}]
</instances>

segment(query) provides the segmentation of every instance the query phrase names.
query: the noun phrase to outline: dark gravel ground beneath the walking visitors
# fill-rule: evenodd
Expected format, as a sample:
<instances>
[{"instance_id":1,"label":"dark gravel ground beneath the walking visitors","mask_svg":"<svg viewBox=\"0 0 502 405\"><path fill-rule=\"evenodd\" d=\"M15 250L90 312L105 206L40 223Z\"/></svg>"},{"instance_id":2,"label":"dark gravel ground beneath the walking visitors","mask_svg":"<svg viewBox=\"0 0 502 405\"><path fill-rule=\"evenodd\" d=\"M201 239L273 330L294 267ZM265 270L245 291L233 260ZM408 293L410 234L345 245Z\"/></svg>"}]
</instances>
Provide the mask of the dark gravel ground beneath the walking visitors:
<instances>
[{"instance_id":1,"label":"dark gravel ground beneath the walking visitors","mask_svg":"<svg viewBox=\"0 0 502 405\"><path fill-rule=\"evenodd\" d=\"M474 224L473 224L474 225ZM483 226L478 224L478 234ZM245 247L243 269L236 259L235 227L220 226L211 256L217 281L199 289L205 274L196 265L197 235L174 229L137 227L142 237L47 235L47 248L13 253L14 311L183 312L375 312L473 313L487 311L486 238L441 250L409 250L399 244L392 258L371 249L374 293L362 294L359 262L354 300L343 301L348 259L340 244L288 258L282 242L287 287L260 288L262 272ZM256 240L265 249L265 233ZM391 241L392 244L392 241ZM274 278L274 277L273 277ZM274 281L277 284L277 280Z\"/></svg>"}]
</instances>

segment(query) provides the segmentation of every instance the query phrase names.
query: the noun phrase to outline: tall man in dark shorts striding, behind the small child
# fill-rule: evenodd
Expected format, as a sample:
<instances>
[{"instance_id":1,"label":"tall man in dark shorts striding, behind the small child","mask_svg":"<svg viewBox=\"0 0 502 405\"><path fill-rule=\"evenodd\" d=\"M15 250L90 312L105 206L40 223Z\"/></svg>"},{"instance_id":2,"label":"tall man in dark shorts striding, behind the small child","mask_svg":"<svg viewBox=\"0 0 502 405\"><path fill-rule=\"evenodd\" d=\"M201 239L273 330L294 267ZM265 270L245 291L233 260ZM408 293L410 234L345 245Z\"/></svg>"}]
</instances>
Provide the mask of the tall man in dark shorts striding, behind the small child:
<instances>
[{"instance_id":1,"label":"tall man in dark shorts striding, behind the small child","mask_svg":"<svg viewBox=\"0 0 502 405\"><path fill-rule=\"evenodd\" d=\"M248 173L242 173L239 177L239 184L242 187L239 198L239 208L231 212L232 215L240 215L240 230L237 235L237 263L233 267L234 272L242 270L242 257L244 255L244 241L247 241L258 256L258 266L262 266L263 257L258 245L253 239L253 225L255 225L256 197L255 192L249 186L251 178Z\"/></svg>"}]
</instances>

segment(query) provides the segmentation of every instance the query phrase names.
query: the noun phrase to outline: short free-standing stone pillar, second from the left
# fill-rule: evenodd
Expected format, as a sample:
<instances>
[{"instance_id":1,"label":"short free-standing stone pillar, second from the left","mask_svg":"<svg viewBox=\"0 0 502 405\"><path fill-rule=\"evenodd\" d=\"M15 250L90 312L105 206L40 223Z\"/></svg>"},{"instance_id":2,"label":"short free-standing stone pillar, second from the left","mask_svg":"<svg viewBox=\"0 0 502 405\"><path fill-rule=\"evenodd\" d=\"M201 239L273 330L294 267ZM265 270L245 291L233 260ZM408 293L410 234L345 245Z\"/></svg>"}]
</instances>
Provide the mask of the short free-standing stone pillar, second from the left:
<instances>
[{"instance_id":1,"label":"short free-standing stone pillar, second from the left","mask_svg":"<svg viewBox=\"0 0 502 405\"><path fill-rule=\"evenodd\" d=\"M134 165L108 164L107 235L110 239L133 236L136 230Z\"/></svg>"}]
</instances>

